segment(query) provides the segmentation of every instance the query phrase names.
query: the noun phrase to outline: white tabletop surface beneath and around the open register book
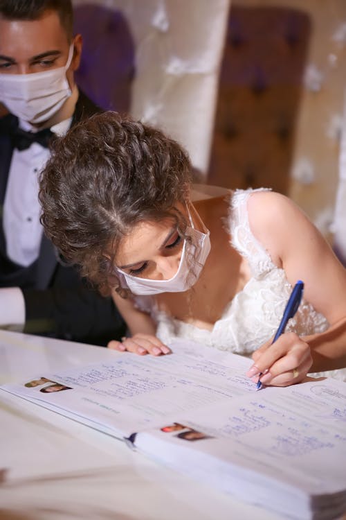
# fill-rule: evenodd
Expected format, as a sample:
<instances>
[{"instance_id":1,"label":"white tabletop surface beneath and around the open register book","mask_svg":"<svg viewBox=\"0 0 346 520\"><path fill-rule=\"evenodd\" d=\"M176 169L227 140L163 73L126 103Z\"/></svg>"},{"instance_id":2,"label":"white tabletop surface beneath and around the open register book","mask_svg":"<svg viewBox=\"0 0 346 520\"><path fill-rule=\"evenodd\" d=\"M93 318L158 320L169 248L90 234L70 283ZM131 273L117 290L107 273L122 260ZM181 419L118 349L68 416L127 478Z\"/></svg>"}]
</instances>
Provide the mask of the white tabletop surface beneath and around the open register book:
<instances>
[{"instance_id":1,"label":"white tabletop surface beneath and around the open register book","mask_svg":"<svg viewBox=\"0 0 346 520\"><path fill-rule=\"evenodd\" d=\"M0 384L111 356L103 347L0 331ZM1 520L280 519L6 392L0 424Z\"/></svg>"}]
</instances>

